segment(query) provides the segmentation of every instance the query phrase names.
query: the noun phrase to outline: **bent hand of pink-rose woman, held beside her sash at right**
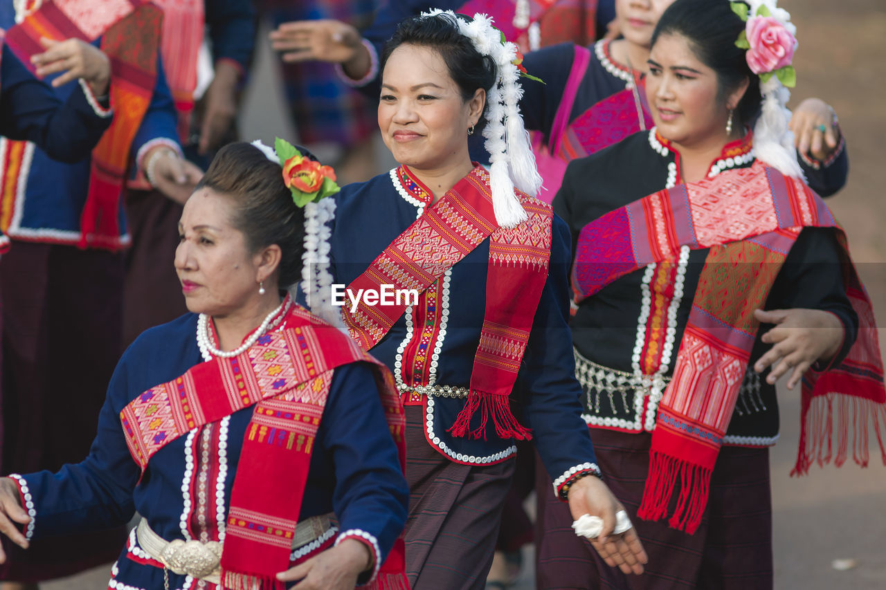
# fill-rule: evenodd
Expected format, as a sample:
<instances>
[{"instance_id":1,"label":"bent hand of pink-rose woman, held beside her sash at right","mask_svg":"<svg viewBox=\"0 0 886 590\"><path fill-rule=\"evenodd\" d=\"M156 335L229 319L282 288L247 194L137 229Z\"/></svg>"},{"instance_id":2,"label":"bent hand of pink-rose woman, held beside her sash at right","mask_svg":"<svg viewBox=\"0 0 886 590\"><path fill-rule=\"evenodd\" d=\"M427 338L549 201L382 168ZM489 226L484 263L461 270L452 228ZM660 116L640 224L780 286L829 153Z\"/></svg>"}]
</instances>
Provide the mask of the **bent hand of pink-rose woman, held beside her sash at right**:
<instances>
[{"instance_id":1,"label":"bent hand of pink-rose woman, held beside her sash at right","mask_svg":"<svg viewBox=\"0 0 886 590\"><path fill-rule=\"evenodd\" d=\"M760 338L773 347L754 363L758 373L773 367L766 377L769 384L794 369L788 379L788 389L793 389L813 362L832 359L843 344L843 322L820 309L756 309L754 317L775 324Z\"/></svg>"}]
</instances>

